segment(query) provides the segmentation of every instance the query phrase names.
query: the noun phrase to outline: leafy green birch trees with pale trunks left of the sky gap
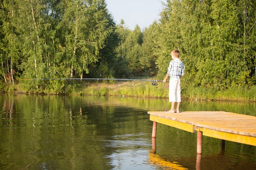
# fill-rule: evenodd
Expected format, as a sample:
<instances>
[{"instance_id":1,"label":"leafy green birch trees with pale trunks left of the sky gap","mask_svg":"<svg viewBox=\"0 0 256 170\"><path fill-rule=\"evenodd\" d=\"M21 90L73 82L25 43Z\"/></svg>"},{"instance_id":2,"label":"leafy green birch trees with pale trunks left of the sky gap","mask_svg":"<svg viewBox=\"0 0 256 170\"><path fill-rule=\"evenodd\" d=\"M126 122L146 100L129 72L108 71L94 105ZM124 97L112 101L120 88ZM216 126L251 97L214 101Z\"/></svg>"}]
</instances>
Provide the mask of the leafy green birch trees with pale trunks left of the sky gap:
<instances>
[{"instance_id":1,"label":"leafy green birch trees with pale trunks left of the sky gap","mask_svg":"<svg viewBox=\"0 0 256 170\"><path fill-rule=\"evenodd\" d=\"M114 22L103 0L12 0L1 1L0 5L0 73L6 83L14 79L82 77L114 51L110 48L113 44L108 44L115 41ZM105 49L103 56L100 50L105 46L110 49ZM108 67L108 62L100 67L113 76L114 69ZM96 67L89 67L93 63ZM22 82L21 87L30 92L59 94L71 90L68 85L34 81Z\"/></svg>"}]
</instances>

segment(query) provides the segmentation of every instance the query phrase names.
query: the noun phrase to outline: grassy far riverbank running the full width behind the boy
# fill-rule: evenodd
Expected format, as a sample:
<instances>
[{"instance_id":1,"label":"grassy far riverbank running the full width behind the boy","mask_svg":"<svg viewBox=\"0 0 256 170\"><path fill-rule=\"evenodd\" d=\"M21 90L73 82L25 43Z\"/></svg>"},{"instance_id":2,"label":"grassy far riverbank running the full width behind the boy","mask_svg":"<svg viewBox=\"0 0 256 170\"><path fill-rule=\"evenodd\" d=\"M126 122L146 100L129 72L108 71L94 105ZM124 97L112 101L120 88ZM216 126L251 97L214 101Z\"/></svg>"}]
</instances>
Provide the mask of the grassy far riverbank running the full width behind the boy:
<instances>
[{"instance_id":1,"label":"grassy far riverbank running the full width behind the boy","mask_svg":"<svg viewBox=\"0 0 256 170\"><path fill-rule=\"evenodd\" d=\"M18 92L27 94L69 94L69 95L94 95L94 96L131 96L168 98L168 83L158 82L158 86L152 86L152 82L69 82L64 92L56 93L52 90L28 91L20 84L6 86L5 92ZM225 90L214 88L182 86L181 96L188 100L226 100L226 101L256 101L256 86L234 86Z\"/></svg>"}]
</instances>

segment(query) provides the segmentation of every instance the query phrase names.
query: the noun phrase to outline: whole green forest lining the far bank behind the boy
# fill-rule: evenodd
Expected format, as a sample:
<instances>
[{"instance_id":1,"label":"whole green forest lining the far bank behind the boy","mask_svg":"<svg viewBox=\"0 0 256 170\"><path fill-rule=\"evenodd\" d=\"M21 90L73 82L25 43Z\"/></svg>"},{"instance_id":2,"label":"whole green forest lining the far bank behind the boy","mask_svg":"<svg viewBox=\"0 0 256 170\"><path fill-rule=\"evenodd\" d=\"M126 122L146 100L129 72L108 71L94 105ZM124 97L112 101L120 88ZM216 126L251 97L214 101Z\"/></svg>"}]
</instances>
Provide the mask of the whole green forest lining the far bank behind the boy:
<instances>
[{"instance_id":1,"label":"whole green forest lining the far bank behind the boy","mask_svg":"<svg viewBox=\"0 0 256 170\"><path fill-rule=\"evenodd\" d=\"M178 49L183 89L256 91L254 0L166 0L160 19L133 30L105 0L0 0L0 89L63 94L65 80L163 79ZM254 94L255 96L255 94ZM255 100L255 99L254 99Z\"/></svg>"}]
</instances>

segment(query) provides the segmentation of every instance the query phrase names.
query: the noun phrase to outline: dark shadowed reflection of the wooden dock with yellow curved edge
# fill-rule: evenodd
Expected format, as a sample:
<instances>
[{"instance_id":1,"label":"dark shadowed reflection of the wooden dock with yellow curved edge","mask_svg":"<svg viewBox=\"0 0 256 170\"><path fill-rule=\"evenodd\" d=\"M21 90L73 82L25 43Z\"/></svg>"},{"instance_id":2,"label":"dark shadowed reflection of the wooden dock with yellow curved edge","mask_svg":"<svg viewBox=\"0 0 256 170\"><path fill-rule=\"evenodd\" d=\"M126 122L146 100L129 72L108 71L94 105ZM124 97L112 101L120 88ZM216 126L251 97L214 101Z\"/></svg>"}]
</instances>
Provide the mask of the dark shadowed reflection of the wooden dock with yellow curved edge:
<instances>
[{"instance_id":1,"label":"dark shadowed reflection of the wooden dock with yellow curved edge","mask_svg":"<svg viewBox=\"0 0 256 170\"><path fill-rule=\"evenodd\" d=\"M160 128L160 132L165 131L167 132L164 135L164 138L167 139L169 145L163 144L163 135L162 133L158 133L158 137L152 138L152 150L148 155L149 161L155 167L160 167L163 169L255 169L256 162L255 162L255 153L256 147L250 145L242 145L240 143L234 143L224 140L213 139L209 137L203 137L203 145L207 148L203 148L206 154L195 154L196 148L189 145L189 143L193 143L192 145L196 145L196 138L188 137L185 139L187 141L187 145L192 149L186 149L184 145L180 145L180 142L177 141L177 135L182 135L177 133L180 131L179 129L171 128L170 131L166 131L168 126L166 125L158 125L158 130ZM180 131L181 132L181 131ZM189 134L189 132L184 132L184 134ZM192 133L190 133L192 134ZM156 139L158 142L156 142ZM213 141L210 140L213 139ZM175 142L176 141L176 142ZM209 143L210 142L210 143ZM228 145L225 145L228 143ZM217 148L211 148L212 146ZM238 147L240 147L238 149ZM247 153L245 153L244 151ZM235 153L237 151L239 153ZM166 154L167 152L168 154ZM185 154L185 151L187 154ZM194 154L189 153L190 151L194 151ZM210 150L210 152L209 152ZM233 150L233 151L232 151ZM225 153L226 151L226 153ZM240 155L241 154L241 155ZM250 160L241 159L241 156L250 155ZM195 156L196 155L196 156ZM230 162L233 162L230 164ZM194 164L194 165L193 165Z\"/></svg>"}]
</instances>

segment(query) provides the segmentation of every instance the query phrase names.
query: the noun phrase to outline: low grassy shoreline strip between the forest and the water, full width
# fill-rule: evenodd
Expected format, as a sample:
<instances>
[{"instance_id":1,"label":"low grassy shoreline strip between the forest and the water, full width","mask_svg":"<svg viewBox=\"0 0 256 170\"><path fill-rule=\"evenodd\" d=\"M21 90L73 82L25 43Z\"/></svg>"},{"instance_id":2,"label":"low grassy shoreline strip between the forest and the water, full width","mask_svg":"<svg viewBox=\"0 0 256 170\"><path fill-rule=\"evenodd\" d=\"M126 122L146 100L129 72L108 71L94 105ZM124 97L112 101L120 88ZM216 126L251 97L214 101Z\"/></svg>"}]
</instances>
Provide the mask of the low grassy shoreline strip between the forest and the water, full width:
<instances>
[{"instance_id":1,"label":"low grassy shoreline strip between the forest and the water, full width","mask_svg":"<svg viewBox=\"0 0 256 170\"><path fill-rule=\"evenodd\" d=\"M168 99L167 84L159 83L157 87L151 83L122 82L122 83L84 83L79 89L67 93L26 92L15 84L8 91L0 91L7 94L27 95L80 95L80 96L119 96L141 97L152 99ZM256 86L248 89L247 96L244 87L229 88L225 91L214 91L202 87L181 86L181 99L191 101L243 101L256 102ZM249 96L249 97L248 97ZM250 99L249 99L250 98Z\"/></svg>"}]
</instances>

